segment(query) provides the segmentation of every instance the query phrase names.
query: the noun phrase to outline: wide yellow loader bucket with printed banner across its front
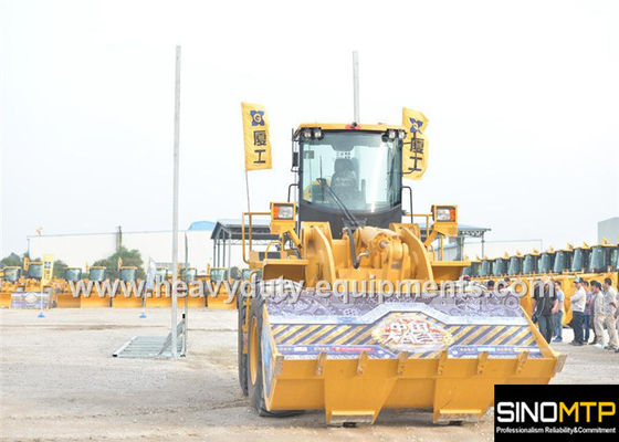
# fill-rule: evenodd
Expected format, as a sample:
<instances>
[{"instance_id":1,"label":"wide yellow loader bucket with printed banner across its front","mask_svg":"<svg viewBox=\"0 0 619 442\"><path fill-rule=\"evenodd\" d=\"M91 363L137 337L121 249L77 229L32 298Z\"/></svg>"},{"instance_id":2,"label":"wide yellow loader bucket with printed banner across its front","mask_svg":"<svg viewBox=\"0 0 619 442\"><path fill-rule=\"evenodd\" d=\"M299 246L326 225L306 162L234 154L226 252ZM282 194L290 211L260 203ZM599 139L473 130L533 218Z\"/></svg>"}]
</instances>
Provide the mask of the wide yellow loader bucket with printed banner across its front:
<instances>
[{"instance_id":1,"label":"wide yellow loader bucket with printed banner across its front","mask_svg":"<svg viewBox=\"0 0 619 442\"><path fill-rule=\"evenodd\" d=\"M381 409L476 421L497 383L548 383L554 352L513 294L343 299L269 297L261 333L266 409L325 410L329 424L373 423Z\"/></svg>"}]
</instances>

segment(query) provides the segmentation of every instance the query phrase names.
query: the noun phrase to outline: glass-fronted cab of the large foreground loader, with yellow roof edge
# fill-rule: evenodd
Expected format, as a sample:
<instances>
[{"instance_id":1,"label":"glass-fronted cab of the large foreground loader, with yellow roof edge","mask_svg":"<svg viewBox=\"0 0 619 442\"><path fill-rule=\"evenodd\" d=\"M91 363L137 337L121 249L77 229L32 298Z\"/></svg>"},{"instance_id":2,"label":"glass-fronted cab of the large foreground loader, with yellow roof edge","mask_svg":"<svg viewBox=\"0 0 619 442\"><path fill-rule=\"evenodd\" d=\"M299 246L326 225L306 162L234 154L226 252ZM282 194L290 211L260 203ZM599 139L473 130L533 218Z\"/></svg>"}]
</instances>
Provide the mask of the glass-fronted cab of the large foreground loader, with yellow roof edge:
<instances>
[{"instance_id":1,"label":"glass-fronted cab of the large foreground loader, with yellow roof edge","mask_svg":"<svg viewBox=\"0 0 619 442\"><path fill-rule=\"evenodd\" d=\"M300 126L293 137L298 222L326 221L336 239L352 224L346 212L360 225L401 222L403 138L398 126Z\"/></svg>"}]
</instances>

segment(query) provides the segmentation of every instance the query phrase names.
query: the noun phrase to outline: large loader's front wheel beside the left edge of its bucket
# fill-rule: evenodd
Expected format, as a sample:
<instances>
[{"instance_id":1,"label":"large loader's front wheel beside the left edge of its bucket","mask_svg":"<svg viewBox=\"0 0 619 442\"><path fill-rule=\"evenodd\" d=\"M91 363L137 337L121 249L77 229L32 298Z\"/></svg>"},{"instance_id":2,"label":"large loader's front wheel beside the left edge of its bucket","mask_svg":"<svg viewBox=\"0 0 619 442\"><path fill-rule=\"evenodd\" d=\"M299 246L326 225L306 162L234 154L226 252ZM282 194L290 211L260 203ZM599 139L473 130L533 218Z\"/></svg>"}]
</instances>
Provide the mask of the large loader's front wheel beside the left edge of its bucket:
<instances>
[{"instance_id":1,"label":"large loader's front wheel beside the left edge of its bucket","mask_svg":"<svg viewBox=\"0 0 619 442\"><path fill-rule=\"evenodd\" d=\"M250 322L248 329L248 393L253 410L260 417L287 418L303 413L303 410L269 411L264 401L262 379L262 296L253 296L249 309Z\"/></svg>"}]
</instances>

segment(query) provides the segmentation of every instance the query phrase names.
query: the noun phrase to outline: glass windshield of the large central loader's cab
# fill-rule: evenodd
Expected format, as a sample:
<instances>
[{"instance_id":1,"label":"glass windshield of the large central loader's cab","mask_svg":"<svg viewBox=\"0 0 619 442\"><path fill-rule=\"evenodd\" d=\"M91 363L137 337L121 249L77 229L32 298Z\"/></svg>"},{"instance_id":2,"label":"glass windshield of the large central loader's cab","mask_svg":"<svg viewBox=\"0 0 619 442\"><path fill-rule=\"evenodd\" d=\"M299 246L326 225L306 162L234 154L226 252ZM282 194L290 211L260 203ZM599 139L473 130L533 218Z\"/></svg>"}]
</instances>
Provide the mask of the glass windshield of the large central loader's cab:
<instances>
[{"instance_id":1,"label":"glass windshield of the large central loader's cab","mask_svg":"<svg viewBox=\"0 0 619 442\"><path fill-rule=\"evenodd\" d=\"M301 141L303 200L375 212L400 203L402 141L382 133L331 130ZM326 189L329 187L332 191Z\"/></svg>"}]
</instances>

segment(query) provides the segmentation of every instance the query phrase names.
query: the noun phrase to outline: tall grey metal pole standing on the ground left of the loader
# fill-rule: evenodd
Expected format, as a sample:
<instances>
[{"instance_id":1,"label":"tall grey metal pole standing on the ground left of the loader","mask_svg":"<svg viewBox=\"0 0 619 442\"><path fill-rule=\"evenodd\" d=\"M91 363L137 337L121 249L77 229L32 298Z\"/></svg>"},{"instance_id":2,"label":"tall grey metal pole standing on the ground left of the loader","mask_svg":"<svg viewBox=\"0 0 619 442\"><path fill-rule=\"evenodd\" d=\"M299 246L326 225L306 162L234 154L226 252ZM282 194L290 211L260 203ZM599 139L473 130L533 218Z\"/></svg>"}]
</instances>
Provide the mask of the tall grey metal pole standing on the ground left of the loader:
<instances>
[{"instance_id":1,"label":"tall grey metal pole standing on the ground left of the loader","mask_svg":"<svg viewBox=\"0 0 619 442\"><path fill-rule=\"evenodd\" d=\"M172 202L172 309L171 355L177 357L177 281L178 281L178 139L180 130L180 46L176 46L175 76L175 150L174 150L174 202Z\"/></svg>"}]
</instances>

